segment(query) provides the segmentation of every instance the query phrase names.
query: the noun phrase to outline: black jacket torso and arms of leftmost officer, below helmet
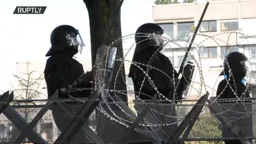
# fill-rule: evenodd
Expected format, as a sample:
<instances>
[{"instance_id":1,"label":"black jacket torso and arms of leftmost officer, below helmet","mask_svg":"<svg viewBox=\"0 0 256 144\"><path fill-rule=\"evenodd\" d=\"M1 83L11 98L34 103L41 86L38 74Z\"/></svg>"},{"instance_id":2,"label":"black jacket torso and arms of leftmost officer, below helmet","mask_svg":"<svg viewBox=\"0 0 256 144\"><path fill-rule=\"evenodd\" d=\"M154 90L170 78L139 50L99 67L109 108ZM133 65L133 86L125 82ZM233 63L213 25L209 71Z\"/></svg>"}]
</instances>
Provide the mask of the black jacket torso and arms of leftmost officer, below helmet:
<instances>
[{"instance_id":1,"label":"black jacket torso and arms of leftmost officer, below helmet","mask_svg":"<svg viewBox=\"0 0 256 144\"><path fill-rule=\"evenodd\" d=\"M46 67L44 70L44 78L46 80L48 98L53 93L63 87L71 85L80 75L84 73L81 63L69 56L68 53L57 53L47 59ZM73 88L91 88L91 83L81 82ZM88 98L91 94L90 90L72 92L74 98ZM69 98L68 94L59 92L60 98Z\"/></svg>"}]
</instances>

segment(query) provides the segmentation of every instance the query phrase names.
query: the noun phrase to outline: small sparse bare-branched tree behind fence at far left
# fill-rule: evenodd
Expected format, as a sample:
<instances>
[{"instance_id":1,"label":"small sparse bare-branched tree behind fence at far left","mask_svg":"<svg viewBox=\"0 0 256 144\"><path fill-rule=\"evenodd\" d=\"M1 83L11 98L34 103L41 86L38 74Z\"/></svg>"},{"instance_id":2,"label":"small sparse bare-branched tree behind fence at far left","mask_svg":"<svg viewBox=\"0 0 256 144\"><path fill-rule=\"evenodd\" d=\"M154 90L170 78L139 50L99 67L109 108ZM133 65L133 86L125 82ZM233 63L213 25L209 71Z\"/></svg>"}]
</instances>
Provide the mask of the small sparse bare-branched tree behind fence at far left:
<instances>
[{"instance_id":1,"label":"small sparse bare-branched tree behind fence at far left","mask_svg":"<svg viewBox=\"0 0 256 144\"><path fill-rule=\"evenodd\" d=\"M43 102L31 102L29 100L36 99L45 99L47 98L46 94L43 93L43 87L45 85L43 74L36 71L36 69L31 69L30 62L25 62L24 66L21 66L24 72L18 72L17 75L14 75L17 83L16 85L11 85L14 91L14 100L23 100L24 102L17 103L18 105L26 105L25 107L18 108L17 111L24 117L27 122L30 122L35 115L38 113L38 108L27 107L27 105L38 105L43 104ZM15 105L17 105L15 104ZM46 114L43 117L49 117L49 114ZM49 119L49 118L48 118ZM37 131L37 126L34 127L34 130ZM41 129L42 130L42 129ZM10 123L9 130L7 130L8 136L10 136L10 141L13 142L20 135L20 131L14 124Z\"/></svg>"}]
</instances>

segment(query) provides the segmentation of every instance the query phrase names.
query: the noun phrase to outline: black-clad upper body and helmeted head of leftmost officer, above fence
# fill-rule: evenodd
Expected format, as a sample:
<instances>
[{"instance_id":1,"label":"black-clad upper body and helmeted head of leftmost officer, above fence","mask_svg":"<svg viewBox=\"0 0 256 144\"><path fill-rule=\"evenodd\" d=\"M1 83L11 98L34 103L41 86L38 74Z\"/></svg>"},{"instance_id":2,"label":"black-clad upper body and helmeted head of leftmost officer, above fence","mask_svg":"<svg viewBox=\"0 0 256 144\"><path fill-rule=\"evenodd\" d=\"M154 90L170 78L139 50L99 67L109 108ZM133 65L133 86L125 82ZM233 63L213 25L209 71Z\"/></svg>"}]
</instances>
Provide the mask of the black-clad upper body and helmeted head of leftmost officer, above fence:
<instances>
[{"instance_id":1,"label":"black-clad upper body and helmeted head of leftmost officer, above fence","mask_svg":"<svg viewBox=\"0 0 256 144\"><path fill-rule=\"evenodd\" d=\"M91 72L83 75L85 72L82 64L72 58L82 44L78 42L77 36L78 30L69 25L56 27L51 34L52 47L46 54L50 58L47 59L44 70L48 98L56 90L59 90L60 98L69 98L69 88L91 88ZM74 98L87 98L90 93L90 90L86 90L73 92L71 95Z\"/></svg>"}]
</instances>

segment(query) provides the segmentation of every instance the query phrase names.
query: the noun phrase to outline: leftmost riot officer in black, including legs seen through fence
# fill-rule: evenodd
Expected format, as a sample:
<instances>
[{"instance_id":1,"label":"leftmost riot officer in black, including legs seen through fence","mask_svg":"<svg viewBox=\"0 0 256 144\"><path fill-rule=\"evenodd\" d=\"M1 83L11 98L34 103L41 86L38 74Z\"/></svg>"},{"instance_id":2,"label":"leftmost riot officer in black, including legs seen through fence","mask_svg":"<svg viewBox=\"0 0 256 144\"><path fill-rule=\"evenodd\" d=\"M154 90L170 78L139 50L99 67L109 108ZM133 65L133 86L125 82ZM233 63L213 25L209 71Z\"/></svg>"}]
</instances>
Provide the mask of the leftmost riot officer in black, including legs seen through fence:
<instances>
[{"instance_id":1,"label":"leftmost riot officer in black, including legs seen through fence","mask_svg":"<svg viewBox=\"0 0 256 144\"><path fill-rule=\"evenodd\" d=\"M85 73L82 64L73 59L78 49L82 52L85 46L79 31L70 25L60 25L52 31L50 43L52 46L46 53L50 58L47 59L44 70L48 98L56 90L59 90L59 98L88 98L91 94L89 89L92 80L91 72ZM71 88L88 88L88 90L69 93ZM67 108L75 113L81 108L78 102L69 102L67 105ZM71 119L59 107L52 107L52 113L56 126L63 132ZM71 143L88 142L82 130L78 130Z\"/></svg>"}]
</instances>

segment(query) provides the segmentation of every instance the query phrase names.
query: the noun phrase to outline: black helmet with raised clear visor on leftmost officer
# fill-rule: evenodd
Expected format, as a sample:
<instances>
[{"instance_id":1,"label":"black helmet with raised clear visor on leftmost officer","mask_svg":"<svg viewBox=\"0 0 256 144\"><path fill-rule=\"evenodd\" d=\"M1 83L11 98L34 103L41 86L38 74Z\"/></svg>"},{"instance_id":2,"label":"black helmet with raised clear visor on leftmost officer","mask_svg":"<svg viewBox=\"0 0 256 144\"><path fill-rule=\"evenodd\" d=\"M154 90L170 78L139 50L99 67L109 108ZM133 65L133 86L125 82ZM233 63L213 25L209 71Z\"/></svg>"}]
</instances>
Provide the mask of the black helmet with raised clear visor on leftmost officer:
<instances>
[{"instance_id":1,"label":"black helmet with raised clear visor on leftmost officer","mask_svg":"<svg viewBox=\"0 0 256 144\"><path fill-rule=\"evenodd\" d=\"M50 35L50 43L52 46L46 56L51 56L53 53L59 53L69 48L72 48L72 53L75 55L78 53L78 46L81 46L80 53L82 52L82 46L85 46L79 31L70 25L56 27Z\"/></svg>"}]
</instances>

